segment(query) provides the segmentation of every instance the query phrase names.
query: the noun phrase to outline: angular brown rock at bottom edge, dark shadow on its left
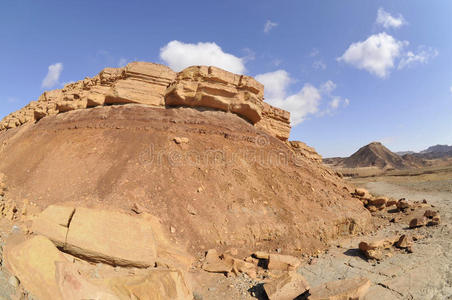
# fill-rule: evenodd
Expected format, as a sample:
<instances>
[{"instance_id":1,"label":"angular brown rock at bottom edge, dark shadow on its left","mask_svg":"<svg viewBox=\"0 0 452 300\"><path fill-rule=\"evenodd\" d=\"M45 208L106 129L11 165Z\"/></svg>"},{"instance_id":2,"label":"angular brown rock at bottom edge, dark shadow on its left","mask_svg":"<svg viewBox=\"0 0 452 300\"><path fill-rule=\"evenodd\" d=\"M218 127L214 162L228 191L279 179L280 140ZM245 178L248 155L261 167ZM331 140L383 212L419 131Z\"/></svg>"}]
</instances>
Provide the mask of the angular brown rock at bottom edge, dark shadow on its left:
<instances>
[{"instance_id":1,"label":"angular brown rock at bottom edge, dark shadow on its left","mask_svg":"<svg viewBox=\"0 0 452 300\"><path fill-rule=\"evenodd\" d=\"M285 273L280 278L264 284L269 300L292 300L309 290L306 279L297 272Z\"/></svg>"}]
</instances>

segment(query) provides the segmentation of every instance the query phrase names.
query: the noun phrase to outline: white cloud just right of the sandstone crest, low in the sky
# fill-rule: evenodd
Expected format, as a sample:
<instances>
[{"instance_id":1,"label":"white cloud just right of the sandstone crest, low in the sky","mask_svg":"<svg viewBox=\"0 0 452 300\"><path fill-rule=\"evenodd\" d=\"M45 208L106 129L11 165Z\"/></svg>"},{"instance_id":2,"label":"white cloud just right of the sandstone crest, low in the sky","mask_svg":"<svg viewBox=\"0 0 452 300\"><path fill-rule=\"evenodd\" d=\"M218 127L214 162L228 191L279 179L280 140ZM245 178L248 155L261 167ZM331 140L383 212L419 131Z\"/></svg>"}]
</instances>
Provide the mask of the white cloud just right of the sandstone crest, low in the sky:
<instances>
[{"instance_id":1,"label":"white cloud just right of the sandstone crest, low in the sky","mask_svg":"<svg viewBox=\"0 0 452 300\"><path fill-rule=\"evenodd\" d=\"M296 126L306 120L309 115L332 113L341 105L348 105L348 99L332 96L336 84L328 80L319 88L310 83L304 84L298 93L290 94L289 86L296 82L285 70L278 70L256 76L256 80L265 86L265 98L269 104L280 107L290 112L292 126ZM329 105L321 110L322 97L332 99Z\"/></svg>"}]
</instances>

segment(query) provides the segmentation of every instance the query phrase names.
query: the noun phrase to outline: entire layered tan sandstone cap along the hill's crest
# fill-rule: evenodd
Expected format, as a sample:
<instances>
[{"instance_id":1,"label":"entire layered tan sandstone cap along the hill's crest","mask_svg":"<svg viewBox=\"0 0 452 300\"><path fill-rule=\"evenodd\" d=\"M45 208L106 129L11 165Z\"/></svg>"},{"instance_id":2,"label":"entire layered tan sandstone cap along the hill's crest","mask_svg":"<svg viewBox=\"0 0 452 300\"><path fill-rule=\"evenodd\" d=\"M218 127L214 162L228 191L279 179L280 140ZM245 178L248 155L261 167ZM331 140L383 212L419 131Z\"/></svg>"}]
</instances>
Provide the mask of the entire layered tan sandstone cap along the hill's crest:
<instances>
[{"instance_id":1,"label":"entire layered tan sandstone cap along the hill's crest","mask_svg":"<svg viewBox=\"0 0 452 300\"><path fill-rule=\"evenodd\" d=\"M44 92L0 122L0 131L39 121L45 116L103 105L139 103L189 106L232 112L273 136L287 140L290 114L263 102L264 86L252 77L216 67L193 66L176 74L148 62L105 68L92 78Z\"/></svg>"}]
</instances>

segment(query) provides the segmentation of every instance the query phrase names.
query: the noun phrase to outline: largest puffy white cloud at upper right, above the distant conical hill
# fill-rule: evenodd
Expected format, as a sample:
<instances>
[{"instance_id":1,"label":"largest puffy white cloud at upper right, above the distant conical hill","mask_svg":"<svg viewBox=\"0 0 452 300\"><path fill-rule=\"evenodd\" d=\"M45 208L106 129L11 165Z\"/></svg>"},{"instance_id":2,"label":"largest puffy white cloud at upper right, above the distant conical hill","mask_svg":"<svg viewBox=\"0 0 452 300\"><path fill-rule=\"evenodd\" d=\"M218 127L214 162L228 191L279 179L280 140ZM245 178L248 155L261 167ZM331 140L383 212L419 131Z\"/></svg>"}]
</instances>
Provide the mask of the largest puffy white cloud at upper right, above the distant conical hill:
<instances>
[{"instance_id":1,"label":"largest puffy white cloud at upper right, above the distant conical hill","mask_svg":"<svg viewBox=\"0 0 452 300\"><path fill-rule=\"evenodd\" d=\"M402 53L407 41L398 41L387 33L371 35L363 42L351 44L338 61L385 78L394 68L394 61Z\"/></svg>"}]
</instances>

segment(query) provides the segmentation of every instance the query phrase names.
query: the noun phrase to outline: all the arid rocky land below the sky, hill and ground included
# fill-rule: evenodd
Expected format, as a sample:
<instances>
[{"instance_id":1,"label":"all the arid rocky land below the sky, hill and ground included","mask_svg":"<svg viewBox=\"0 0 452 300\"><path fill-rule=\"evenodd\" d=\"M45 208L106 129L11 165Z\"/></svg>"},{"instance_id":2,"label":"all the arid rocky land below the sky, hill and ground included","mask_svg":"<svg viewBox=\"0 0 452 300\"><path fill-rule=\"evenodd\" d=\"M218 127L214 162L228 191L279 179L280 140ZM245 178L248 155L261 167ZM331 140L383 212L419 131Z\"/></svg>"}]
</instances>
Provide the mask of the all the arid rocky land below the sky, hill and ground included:
<instances>
[{"instance_id":1,"label":"all the arid rocky land below the sky, hill and ground included","mask_svg":"<svg viewBox=\"0 0 452 300\"><path fill-rule=\"evenodd\" d=\"M289 113L263 89L136 62L8 115L0 296L449 297L446 161L413 171L373 143L353 164L391 168L344 178L288 140Z\"/></svg>"}]
</instances>

